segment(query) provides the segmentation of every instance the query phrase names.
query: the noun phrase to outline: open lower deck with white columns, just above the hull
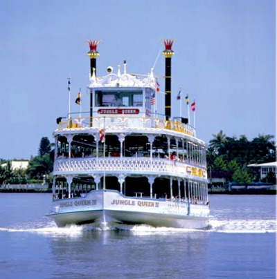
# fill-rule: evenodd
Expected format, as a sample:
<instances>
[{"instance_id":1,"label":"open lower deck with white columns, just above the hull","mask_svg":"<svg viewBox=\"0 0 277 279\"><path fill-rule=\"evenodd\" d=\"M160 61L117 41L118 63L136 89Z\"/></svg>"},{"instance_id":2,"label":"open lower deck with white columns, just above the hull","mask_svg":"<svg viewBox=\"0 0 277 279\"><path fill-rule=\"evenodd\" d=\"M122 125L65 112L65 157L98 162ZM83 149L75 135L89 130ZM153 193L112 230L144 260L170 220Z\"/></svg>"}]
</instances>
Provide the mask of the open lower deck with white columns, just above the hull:
<instances>
[{"instance_id":1,"label":"open lower deck with white columns, just above the hull","mask_svg":"<svg viewBox=\"0 0 277 279\"><path fill-rule=\"evenodd\" d=\"M85 197L94 190L114 190L130 198L208 204L205 182L154 175L56 177L53 184L53 200Z\"/></svg>"}]
</instances>

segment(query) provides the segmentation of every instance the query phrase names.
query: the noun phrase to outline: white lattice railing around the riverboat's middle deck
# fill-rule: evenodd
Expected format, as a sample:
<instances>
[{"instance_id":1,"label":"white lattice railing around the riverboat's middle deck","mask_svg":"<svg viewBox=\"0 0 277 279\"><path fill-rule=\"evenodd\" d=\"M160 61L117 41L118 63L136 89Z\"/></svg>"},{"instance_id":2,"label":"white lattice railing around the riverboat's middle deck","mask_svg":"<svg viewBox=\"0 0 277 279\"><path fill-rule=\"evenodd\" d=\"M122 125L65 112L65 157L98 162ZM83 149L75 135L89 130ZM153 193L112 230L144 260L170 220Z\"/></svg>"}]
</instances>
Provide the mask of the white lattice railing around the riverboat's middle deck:
<instances>
[{"instance_id":1,"label":"white lattice railing around the riverboat's middle deck","mask_svg":"<svg viewBox=\"0 0 277 279\"><path fill-rule=\"evenodd\" d=\"M114 171L125 173L159 173L166 175L191 175L192 167L184 162L150 157L91 157L57 159L53 174L88 173L89 171ZM199 170L200 168L197 167ZM206 171L202 169L203 176ZM201 177L202 175L197 175Z\"/></svg>"}]
</instances>

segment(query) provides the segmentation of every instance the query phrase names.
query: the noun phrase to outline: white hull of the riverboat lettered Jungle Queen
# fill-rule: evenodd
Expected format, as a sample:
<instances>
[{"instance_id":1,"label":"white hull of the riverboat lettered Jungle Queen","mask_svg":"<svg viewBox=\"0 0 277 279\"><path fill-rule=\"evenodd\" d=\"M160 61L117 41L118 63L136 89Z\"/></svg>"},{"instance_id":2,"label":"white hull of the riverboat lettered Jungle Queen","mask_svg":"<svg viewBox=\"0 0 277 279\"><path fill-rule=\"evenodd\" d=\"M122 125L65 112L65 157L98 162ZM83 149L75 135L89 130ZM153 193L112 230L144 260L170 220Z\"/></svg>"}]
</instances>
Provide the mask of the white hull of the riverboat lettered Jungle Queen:
<instances>
[{"instance_id":1,"label":"white hull of the riverboat lettered Jungle Queen","mask_svg":"<svg viewBox=\"0 0 277 279\"><path fill-rule=\"evenodd\" d=\"M202 229L208 226L208 205L127 198L118 191L91 191L84 198L53 202L51 213L59 227L66 224L149 224L154 227Z\"/></svg>"}]
</instances>

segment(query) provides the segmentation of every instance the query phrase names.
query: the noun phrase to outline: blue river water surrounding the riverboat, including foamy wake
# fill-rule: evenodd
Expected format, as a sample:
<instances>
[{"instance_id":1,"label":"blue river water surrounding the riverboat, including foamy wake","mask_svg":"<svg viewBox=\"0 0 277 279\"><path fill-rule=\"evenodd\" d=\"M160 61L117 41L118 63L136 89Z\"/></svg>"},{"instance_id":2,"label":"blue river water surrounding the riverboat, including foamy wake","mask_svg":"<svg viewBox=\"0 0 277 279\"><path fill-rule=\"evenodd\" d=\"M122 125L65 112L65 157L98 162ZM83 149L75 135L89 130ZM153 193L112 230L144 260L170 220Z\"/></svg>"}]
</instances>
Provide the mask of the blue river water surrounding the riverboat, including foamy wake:
<instances>
[{"instance_id":1,"label":"blue river water surrounding the riverboat, including foamy wake","mask_svg":"<svg viewBox=\"0 0 277 279\"><path fill-rule=\"evenodd\" d=\"M210 195L206 230L57 228L48 193L0 193L0 278L276 278L276 197Z\"/></svg>"}]
</instances>

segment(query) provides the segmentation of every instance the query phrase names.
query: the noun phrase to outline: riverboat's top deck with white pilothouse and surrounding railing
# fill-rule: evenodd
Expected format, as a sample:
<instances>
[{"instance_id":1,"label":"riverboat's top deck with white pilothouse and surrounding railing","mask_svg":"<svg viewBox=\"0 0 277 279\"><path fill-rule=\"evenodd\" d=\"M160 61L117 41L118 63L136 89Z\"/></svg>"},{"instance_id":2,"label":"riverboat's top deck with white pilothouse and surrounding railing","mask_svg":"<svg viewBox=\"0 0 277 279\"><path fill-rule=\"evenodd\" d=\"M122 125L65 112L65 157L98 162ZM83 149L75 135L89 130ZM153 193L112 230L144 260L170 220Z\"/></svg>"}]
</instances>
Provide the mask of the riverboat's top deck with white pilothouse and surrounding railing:
<instances>
[{"instance_id":1,"label":"riverboat's top deck with white pilothouse and surrounding railing","mask_svg":"<svg viewBox=\"0 0 277 279\"><path fill-rule=\"evenodd\" d=\"M159 91L157 78L153 69L148 75L127 73L127 64L124 64L123 73L118 66L117 73L109 73L103 77L96 77L95 71L89 80L91 113L69 114L65 121L59 122L56 132L83 131L86 129L102 129L106 131L120 131L127 129L151 131L166 129L170 132L179 132L189 137L196 137L195 128L183 123L181 117L167 119L166 115L157 113L157 99L166 93ZM165 131L165 132L166 132Z\"/></svg>"}]
</instances>

